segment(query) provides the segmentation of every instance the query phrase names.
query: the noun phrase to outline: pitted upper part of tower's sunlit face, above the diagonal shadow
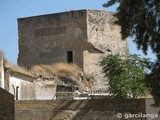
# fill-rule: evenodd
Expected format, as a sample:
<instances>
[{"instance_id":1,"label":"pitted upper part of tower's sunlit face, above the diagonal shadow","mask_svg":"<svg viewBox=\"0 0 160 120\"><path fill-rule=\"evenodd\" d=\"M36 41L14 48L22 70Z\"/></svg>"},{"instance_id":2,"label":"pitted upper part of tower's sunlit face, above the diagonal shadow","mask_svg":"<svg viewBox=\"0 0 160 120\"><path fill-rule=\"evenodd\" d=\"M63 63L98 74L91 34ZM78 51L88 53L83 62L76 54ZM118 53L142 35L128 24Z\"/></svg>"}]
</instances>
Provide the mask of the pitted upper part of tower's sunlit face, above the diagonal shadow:
<instances>
[{"instance_id":1,"label":"pitted upper part of tower's sunlit face, above the diagonal shadow","mask_svg":"<svg viewBox=\"0 0 160 120\"><path fill-rule=\"evenodd\" d=\"M121 27L114 22L114 13L88 10L87 11L87 37L88 42L104 53L128 55L128 41L122 40Z\"/></svg>"}]
</instances>

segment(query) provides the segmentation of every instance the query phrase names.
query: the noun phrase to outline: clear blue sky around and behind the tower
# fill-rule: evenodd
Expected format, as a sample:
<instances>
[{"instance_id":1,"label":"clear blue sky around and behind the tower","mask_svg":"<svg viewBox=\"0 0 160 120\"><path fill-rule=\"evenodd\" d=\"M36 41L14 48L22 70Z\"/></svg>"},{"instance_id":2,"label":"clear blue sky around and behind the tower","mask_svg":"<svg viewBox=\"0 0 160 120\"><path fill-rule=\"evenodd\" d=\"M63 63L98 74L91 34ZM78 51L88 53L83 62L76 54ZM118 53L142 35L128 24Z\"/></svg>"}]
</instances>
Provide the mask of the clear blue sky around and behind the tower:
<instances>
[{"instance_id":1,"label":"clear blue sky around and behind the tower","mask_svg":"<svg viewBox=\"0 0 160 120\"><path fill-rule=\"evenodd\" d=\"M107 0L0 0L0 49L5 58L17 64L18 58L18 25L17 18L52 14L69 10L96 9L115 12L117 5L103 8ZM142 54L129 38L131 54ZM143 55L144 56L144 55ZM151 51L146 57L155 59Z\"/></svg>"}]
</instances>

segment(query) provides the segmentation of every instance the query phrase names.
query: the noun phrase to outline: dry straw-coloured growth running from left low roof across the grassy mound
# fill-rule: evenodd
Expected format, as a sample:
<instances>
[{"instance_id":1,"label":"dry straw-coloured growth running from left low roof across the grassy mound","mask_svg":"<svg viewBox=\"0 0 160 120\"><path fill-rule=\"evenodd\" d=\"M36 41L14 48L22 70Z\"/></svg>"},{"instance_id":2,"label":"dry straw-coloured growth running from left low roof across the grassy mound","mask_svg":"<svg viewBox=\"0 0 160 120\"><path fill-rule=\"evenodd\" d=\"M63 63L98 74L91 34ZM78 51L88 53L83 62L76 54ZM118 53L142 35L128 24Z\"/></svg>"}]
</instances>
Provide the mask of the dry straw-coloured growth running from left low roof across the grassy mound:
<instances>
[{"instance_id":1,"label":"dry straw-coloured growth running from left low roof across the grassy mound","mask_svg":"<svg viewBox=\"0 0 160 120\"><path fill-rule=\"evenodd\" d=\"M67 63L55 63L52 65L40 64L35 65L31 69L25 69L23 67L14 65L4 60L5 69L11 70L13 73L17 73L19 75L26 75L33 78L42 77L48 78L50 80L54 79L61 81L62 83L65 82L67 84L76 83L80 85L81 88L91 87L92 83L90 78L82 72L82 69L78 67L76 64L67 64ZM63 81L65 79L66 81ZM82 79L82 80L80 80ZM59 83L57 82L57 84Z\"/></svg>"}]
</instances>

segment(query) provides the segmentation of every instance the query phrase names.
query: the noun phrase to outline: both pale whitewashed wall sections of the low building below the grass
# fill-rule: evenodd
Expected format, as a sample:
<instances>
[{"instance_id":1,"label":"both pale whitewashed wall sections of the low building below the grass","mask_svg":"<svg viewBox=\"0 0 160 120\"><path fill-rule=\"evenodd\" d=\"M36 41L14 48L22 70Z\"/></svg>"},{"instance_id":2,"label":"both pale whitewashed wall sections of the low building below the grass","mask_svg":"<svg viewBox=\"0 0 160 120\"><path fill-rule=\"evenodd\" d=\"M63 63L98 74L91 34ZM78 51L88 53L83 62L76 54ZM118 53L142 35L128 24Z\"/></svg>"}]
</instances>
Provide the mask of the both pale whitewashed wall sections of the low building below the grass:
<instances>
[{"instance_id":1,"label":"both pale whitewashed wall sections of the low building below the grass","mask_svg":"<svg viewBox=\"0 0 160 120\"><path fill-rule=\"evenodd\" d=\"M14 86L14 88L13 88ZM53 81L31 81L25 78L9 76L9 92L15 95L18 88L18 100L52 100L55 99L56 84Z\"/></svg>"}]
</instances>

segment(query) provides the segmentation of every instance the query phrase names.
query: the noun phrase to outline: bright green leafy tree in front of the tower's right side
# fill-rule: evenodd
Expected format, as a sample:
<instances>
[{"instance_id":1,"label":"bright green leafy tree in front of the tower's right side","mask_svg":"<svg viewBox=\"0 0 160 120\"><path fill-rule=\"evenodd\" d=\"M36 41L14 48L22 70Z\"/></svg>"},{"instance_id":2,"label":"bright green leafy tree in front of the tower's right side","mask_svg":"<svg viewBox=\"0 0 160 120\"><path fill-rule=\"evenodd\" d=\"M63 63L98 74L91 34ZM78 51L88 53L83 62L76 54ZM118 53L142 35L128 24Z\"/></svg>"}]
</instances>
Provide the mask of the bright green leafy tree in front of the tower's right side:
<instances>
[{"instance_id":1,"label":"bright green leafy tree in front of the tower's right side","mask_svg":"<svg viewBox=\"0 0 160 120\"><path fill-rule=\"evenodd\" d=\"M145 84L149 59L130 55L121 58L119 55L105 57L100 65L109 84L112 96L121 99L138 98L148 93Z\"/></svg>"}]
</instances>

